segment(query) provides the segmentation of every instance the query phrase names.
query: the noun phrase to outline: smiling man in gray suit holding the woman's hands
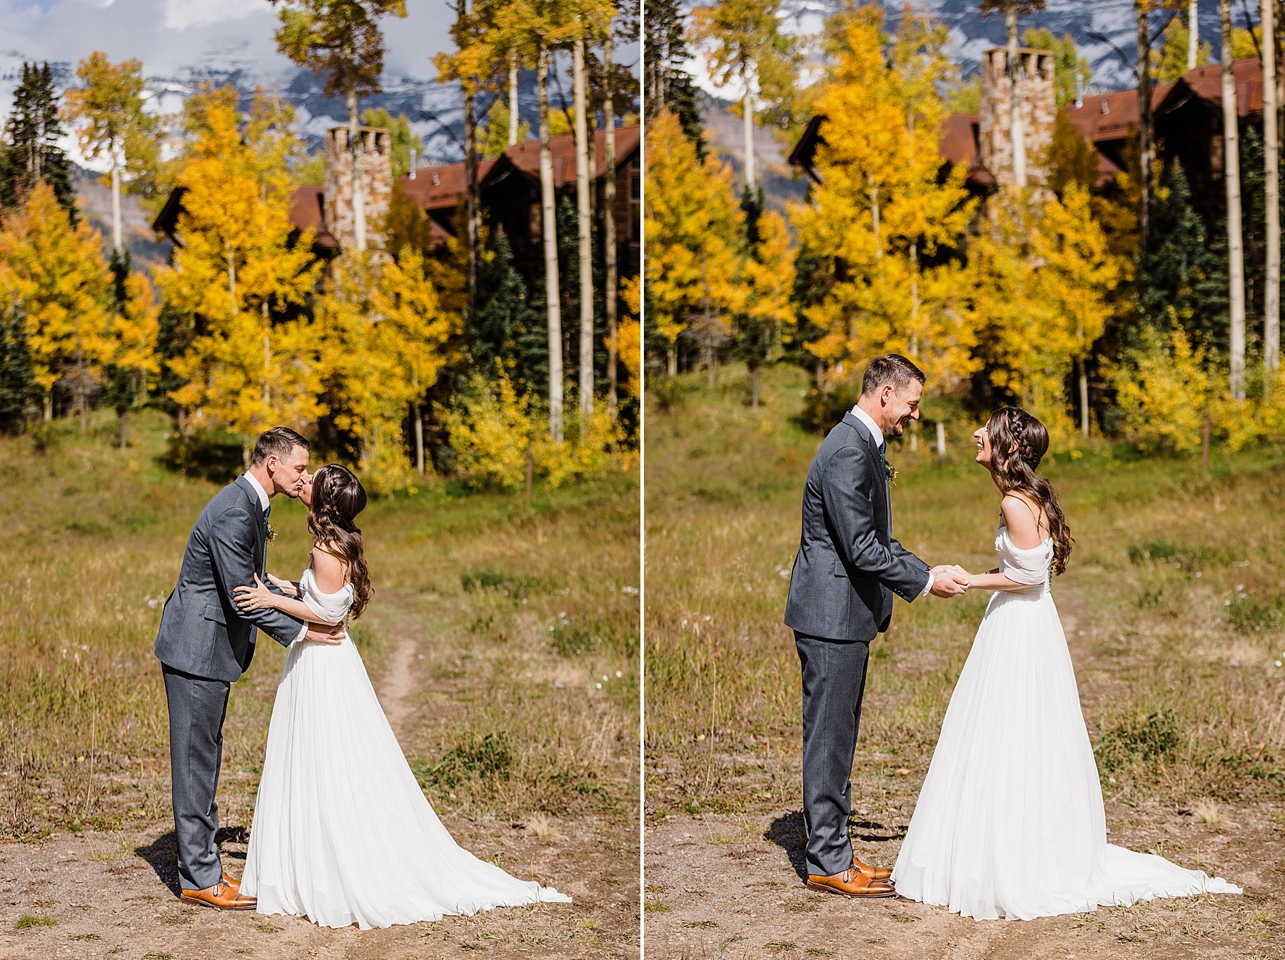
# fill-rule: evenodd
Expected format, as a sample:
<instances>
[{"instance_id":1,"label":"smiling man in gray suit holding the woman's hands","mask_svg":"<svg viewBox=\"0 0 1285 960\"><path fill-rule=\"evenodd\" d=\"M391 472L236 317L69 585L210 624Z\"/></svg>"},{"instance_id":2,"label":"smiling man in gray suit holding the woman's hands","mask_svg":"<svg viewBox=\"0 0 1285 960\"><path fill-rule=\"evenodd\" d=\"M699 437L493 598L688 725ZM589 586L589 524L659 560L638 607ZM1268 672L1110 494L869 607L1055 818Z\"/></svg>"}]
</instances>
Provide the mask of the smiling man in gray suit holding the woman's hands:
<instances>
[{"instance_id":1,"label":"smiling man in gray suit holding the woman's hands","mask_svg":"<svg viewBox=\"0 0 1285 960\"><path fill-rule=\"evenodd\" d=\"M892 870L856 858L848 838L852 757L870 641L888 630L893 594L907 603L957 596L959 568L933 567L892 538L887 437L919 419L924 374L896 353L875 357L861 398L830 431L803 488L803 535L785 625L803 670L803 824L807 885L891 897Z\"/></svg>"}]
</instances>

